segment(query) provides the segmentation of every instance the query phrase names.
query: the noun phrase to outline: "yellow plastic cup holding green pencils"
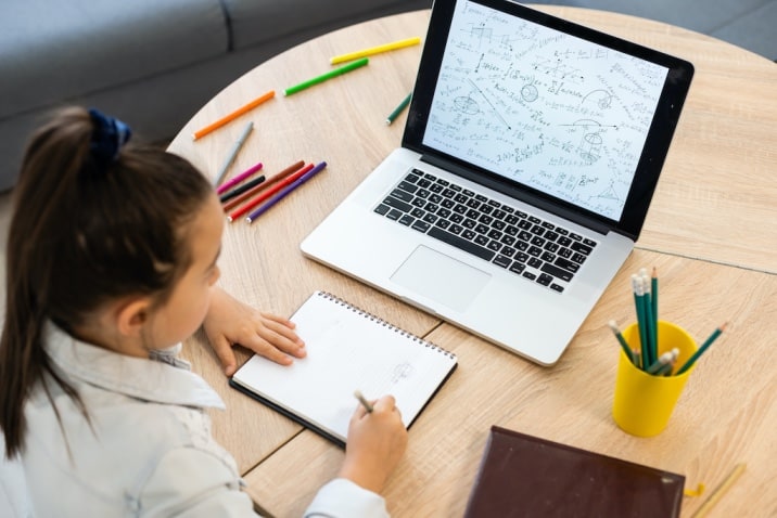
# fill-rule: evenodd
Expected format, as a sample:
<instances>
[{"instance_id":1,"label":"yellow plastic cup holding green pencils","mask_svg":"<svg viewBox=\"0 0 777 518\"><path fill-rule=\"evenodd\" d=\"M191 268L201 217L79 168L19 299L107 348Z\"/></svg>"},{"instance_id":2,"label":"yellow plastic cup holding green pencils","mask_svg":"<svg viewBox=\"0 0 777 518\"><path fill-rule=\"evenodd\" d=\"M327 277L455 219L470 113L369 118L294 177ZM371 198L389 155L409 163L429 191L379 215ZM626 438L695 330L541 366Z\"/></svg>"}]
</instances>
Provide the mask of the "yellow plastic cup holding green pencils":
<instances>
[{"instance_id":1,"label":"yellow plastic cup holding green pencils","mask_svg":"<svg viewBox=\"0 0 777 518\"><path fill-rule=\"evenodd\" d=\"M670 322L660 320L658 331L659 355L675 347L679 349L676 371L696 352L696 342L685 329ZM640 349L637 324L623 329L623 337L633 349ZM637 368L623 349L620 351L612 417L633 436L657 436L666 428L693 366L679 376L655 376Z\"/></svg>"}]
</instances>

